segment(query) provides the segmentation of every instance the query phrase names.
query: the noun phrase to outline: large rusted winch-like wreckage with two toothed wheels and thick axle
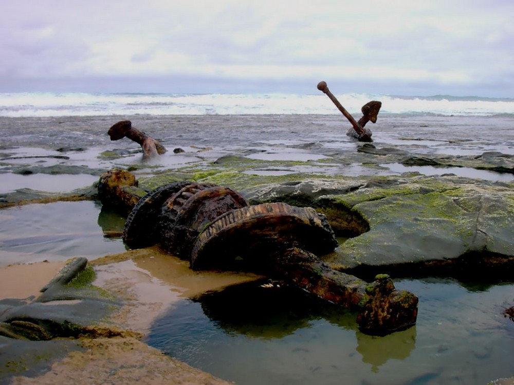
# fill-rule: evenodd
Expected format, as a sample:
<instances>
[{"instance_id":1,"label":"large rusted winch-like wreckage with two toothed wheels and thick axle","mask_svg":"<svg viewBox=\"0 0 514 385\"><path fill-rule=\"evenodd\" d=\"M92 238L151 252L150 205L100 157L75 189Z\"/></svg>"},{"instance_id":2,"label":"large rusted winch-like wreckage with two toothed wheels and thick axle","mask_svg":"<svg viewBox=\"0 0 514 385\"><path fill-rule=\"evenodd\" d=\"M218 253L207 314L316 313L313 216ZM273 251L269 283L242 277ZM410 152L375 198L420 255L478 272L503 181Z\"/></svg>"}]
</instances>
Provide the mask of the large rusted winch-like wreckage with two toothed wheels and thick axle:
<instances>
[{"instance_id":1,"label":"large rusted winch-like wreckage with two toothed wheels and thick axle","mask_svg":"<svg viewBox=\"0 0 514 385\"><path fill-rule=\"evenodd\" d=\"M116 178L103 176L102 183ZM102 202L127 189L103 189ZM105 204L104 203L104 204ZM416 323L418 298L395 289L387 275L372 283L342 273L319 256L338 242L327 218L311 207L282 202L250 205L238 192L212 183L172 182L148 192L133 207L123 230L131 248L159 243L201 269L251 269L357 311L359 328L384 335Z\"/></svg>"}]
</instances>

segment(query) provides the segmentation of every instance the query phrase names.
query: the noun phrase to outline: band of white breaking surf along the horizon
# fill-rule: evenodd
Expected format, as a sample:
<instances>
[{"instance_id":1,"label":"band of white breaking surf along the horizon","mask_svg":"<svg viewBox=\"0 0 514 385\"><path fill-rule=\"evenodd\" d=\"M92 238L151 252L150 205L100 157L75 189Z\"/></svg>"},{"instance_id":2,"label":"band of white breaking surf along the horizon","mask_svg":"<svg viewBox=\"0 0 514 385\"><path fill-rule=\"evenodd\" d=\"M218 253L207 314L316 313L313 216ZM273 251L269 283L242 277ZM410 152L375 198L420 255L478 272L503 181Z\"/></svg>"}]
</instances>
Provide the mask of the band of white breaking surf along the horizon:
<instances>
[{"instance_id":1,"label":"band of white breaking surf along the horizon","mask_svg":"<svg viewBox=\"0 0 514 385\"><path fill-rule=\"evenodd\" d=\"M514 99L403 97L336 94L351 113L371 100L382 102L381 114L489 116L514 114ZM0 93L0 116L55 117L90 115L334 114L326 95L311 94L150 94L150 93Z\"/></svg>"}]
</instances>

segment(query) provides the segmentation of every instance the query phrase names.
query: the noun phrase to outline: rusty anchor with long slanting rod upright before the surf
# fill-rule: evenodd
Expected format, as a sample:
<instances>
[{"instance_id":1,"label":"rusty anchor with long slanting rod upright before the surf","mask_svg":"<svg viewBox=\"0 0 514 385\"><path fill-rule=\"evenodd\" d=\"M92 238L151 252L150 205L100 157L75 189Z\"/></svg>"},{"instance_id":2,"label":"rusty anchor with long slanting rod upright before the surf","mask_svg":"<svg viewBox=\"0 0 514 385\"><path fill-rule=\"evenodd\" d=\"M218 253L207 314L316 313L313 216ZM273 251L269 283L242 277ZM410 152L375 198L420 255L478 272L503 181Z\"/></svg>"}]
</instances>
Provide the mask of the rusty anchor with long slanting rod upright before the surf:
<instances>
[{"instance_id":1,"label":"rusty anchor with long slanting rod upright before the surf","mask_svg":"<svg viewBox=\"0 0 514 385\"><path fill-rule=\"evenodd\" d=\"M364 128L364 126L369 121L371 121L372 123L375 123L377 121L377 115L380 111L380 107L382 106L381 102L373 100L369 103L364 104L361 108L362 118L360 118L357 122L352 116L352 114L348 112L341 105L341 103L339 103L334 94L328 89L326 82L319 82L318 89L325 93L328 96L328 98L332 100L332 102L334 102L339 111L341 111L345 118L348 119L348 121L352 124L352 128L350 128L348 132L346 132L348 136L356 138L357 140L359 140L359 142L373 142L373 139L371 139L371 130L369 128Z\"/></svg>"}]
</instances>

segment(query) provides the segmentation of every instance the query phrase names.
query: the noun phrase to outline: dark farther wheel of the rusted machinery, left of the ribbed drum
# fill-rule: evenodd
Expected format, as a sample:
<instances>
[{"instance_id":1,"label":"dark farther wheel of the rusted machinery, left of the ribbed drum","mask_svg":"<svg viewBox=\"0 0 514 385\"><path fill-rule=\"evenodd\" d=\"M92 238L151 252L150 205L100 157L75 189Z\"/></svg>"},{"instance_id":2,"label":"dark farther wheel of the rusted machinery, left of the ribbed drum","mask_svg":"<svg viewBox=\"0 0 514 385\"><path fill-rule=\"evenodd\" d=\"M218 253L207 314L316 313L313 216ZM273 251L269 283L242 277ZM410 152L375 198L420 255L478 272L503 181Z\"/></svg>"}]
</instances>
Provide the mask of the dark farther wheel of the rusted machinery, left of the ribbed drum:
<instances>
[{"instance_id":1,"label":"dark farther wheel of the rusted machinery, left of the ribbed drum","mask_svg":"<svg viewBox=\"0 0 514 385\"><path fill-rule=\"evenodd\" d=\"M179 181L157 187L142 197L125 221L123 242L130 248L142 248L159 242L158 217L162 204L191 181Z\"/></svg>"}]
</instances>

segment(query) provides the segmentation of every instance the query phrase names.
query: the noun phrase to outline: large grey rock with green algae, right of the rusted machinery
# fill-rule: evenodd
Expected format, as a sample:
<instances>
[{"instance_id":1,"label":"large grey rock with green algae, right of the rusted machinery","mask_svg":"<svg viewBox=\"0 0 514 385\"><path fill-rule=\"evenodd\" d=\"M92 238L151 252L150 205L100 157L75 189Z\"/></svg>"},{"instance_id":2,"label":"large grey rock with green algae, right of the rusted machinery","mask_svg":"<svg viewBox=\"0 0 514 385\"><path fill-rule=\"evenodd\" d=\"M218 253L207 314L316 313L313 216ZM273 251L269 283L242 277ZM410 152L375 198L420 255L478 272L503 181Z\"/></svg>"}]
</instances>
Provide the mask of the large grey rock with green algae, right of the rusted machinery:
<instances>
[{"instance_id":1,"label":"large grey rock with green algae, right of the rusted machinery","mask_svg":"<svg viewBox=\"0 0 514 385\"><path fill-rule=\"evenodd\" d=\"M514 272L512 183L455 176L303 180L245 190L250 202L303 202L349 237L323 260L373 277L509 278Z\"/></svg>"}]
</instances>

